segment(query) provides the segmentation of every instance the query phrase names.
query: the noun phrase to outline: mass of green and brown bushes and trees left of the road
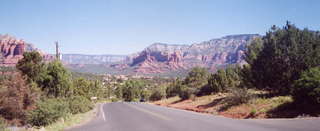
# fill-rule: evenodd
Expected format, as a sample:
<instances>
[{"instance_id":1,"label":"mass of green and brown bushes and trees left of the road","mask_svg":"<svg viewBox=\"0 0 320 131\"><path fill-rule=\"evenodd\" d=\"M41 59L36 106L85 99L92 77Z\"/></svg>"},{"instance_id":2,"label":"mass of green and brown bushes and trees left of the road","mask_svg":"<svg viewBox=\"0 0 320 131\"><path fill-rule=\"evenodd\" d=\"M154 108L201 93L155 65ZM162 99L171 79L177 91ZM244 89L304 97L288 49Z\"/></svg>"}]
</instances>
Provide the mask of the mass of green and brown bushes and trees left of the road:
<instances>
[{"instance_id":1,"label":"mass of green and brown bushes and trees left of the road","mask_svg":"<svg viewBox=\"0 0 320 131\"><path fill-rule=\"evenodd\" d=\"M58 60L46 63L38 52L24 53L16 71L0 82L1 128L47 126L90 111L91 97L102 98L104 91L100 81L72 77Z\"/></svg>"}]
</instances>

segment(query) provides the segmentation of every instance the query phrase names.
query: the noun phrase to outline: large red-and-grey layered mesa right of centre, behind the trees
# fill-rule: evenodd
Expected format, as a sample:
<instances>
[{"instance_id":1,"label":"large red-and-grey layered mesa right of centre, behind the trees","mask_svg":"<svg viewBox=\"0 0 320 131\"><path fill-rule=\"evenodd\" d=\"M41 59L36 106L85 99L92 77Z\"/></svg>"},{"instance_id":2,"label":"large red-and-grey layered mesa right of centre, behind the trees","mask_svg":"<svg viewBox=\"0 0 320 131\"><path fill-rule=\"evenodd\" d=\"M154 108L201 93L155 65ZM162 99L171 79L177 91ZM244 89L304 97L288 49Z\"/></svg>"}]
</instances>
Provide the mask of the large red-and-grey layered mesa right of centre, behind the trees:
<instances>
[{"instance_id":1,"label":"large red-and-grey layered mesa right of centre, behind the trees","mask_svg":"<svg viewBox=\"0 0 320 131\"><path fill-rule=\"evenodd\" d=\"M243 54L256 34L231 35L192 45L155 43L132 59L136 73L163 73L195 66L215 71L228 64L243 64Z\"/></svg>"}]
</instances>

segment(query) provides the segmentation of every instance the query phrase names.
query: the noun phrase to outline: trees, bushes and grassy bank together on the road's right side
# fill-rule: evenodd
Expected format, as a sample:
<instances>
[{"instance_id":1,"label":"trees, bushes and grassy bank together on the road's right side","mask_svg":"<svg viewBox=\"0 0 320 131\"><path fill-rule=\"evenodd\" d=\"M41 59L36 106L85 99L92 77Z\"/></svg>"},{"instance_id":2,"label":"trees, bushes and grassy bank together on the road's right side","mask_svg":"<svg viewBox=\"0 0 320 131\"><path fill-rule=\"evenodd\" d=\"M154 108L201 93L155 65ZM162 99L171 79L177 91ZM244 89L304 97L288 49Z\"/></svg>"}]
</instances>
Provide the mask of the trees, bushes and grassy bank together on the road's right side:
<instances>
[{"instance_id":1,"label":"trees, bushes and grassy bank together on the road's right side","mask_svg":"<svg viewBox=\"0 0 320 131\"><path fill-rule=\"evenodd\" d=\"M289 22L283 28L273 26L264 37L251 42L244 59L245 65L228 66L213 74L194 68L184 80L177 79L167 88L167 96L179 96L178 101L155 103L175 106L180 101L186 109L190 106L201 112L203 107L212 107L236 118L319 116L318 31L301 30ZM212 103L183 102L205 95L212 96Z\"/></svg>"}]
</instances>

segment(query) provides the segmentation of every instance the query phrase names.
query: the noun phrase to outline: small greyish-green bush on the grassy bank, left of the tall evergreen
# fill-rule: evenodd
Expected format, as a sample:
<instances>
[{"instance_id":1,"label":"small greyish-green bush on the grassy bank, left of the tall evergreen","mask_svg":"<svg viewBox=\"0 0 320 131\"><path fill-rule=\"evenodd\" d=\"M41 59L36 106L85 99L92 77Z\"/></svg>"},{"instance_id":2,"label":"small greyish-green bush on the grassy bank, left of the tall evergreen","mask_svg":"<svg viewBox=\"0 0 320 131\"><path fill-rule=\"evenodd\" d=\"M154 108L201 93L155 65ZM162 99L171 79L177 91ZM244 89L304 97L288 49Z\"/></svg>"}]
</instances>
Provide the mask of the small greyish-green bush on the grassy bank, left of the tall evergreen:
<instances>
[{"instance_id":1,"label":"small greyish-green bush on the grassy bank, left of the tall evergreen","mask_svg":"<svg viewBox=\"0 0 320 131\"><path fill-rule=\"evenodd\" d=\"M248 103L253 95L246 88L232 88L229 89L230 95L227 97L227 103L232 105L238 105Z\"/></svg>"}]
</instances>

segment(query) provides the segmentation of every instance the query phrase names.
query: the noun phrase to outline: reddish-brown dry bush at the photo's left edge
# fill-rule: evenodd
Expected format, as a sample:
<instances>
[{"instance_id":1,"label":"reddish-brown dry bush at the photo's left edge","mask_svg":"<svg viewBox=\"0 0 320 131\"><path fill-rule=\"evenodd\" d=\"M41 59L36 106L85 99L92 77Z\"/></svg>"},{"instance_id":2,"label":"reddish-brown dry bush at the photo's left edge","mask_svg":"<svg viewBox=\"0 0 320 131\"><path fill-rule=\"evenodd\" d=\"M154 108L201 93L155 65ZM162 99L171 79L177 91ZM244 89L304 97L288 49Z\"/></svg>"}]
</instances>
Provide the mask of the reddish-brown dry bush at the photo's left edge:
<instances>
[{"instance_id":1,"label":"reddish-brown dry bush at the photo's left edge","mask_svg":"<svg viewBox=\"0 0 320 131\"><path fill-rule=\"evenodd\" d=\"M0 115L23 124L26 111L32 109L38 94L19 74L13 74L0 87Z\"/></svg>"}]
</instances>

